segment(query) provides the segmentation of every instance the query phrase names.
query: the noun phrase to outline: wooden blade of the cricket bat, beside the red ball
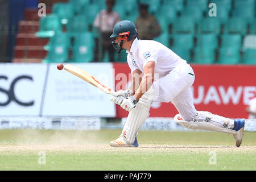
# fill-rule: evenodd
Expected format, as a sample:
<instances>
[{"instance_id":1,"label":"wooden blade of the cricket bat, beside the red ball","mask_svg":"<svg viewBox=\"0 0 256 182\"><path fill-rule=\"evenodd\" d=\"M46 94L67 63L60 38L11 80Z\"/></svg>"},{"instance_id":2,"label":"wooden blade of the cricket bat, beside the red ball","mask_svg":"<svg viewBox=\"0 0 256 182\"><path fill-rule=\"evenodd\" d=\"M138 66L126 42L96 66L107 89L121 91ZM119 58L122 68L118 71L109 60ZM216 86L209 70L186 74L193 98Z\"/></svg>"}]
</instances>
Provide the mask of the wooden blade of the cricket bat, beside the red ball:
<instances>
[{"instance_id":1,"label":"wooden blade of the cricket bat, beside the red ball","mask_svg":"<svg viewBox=\"0 0 256 182\"><path fill-rule=\"evenodd\" d=\"M88 82L89 84L96 86L97 88L101 89L102 91L104 91L107 94L114 94L114 91L112 89L110 89L108 86L102 84L94 76L90 75L90 73L84 71L83 69L81 69L79 67L76 67L72 64L65 64L64 70L81 78L82 80Z\"/></svg>"}]
</instances>

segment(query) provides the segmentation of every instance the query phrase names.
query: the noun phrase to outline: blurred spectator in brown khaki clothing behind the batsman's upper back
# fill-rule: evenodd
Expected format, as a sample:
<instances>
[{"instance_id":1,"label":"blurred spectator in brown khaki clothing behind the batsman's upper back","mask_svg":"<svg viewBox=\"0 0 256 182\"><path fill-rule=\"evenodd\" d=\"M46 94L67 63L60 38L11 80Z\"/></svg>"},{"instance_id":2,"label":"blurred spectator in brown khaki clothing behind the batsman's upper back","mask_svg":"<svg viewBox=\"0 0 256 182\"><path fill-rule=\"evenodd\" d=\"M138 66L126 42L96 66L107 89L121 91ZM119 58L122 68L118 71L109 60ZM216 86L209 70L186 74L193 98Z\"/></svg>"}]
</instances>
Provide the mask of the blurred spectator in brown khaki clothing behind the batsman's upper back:
<instances>
[{"instance_id":1,"label":"blurred spectator in brown khaki clothing behind the batsman's upper back","mask_svg":"<svg viewBox=\"0 0 256 182\"><path fill-rule=\"evenodd\" d=\"M161 28L154 15L148 13L148 5L139 5L139 17L136 20L136 27L139 32L139 39L152 40L161 34Z\"/></svg>"}]
</instances>

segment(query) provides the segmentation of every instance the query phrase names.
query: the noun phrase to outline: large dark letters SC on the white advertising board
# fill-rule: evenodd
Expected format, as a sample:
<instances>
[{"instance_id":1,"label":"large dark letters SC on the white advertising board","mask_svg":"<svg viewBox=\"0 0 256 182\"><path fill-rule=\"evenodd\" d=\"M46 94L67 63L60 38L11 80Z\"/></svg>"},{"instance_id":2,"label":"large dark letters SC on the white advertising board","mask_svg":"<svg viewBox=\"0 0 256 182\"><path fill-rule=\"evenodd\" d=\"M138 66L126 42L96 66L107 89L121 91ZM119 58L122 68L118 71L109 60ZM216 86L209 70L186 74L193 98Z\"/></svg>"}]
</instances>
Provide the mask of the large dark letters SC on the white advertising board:
<instances>
[{"instance_id":1,"label":"large dark letters SC on the white advertising board","mask_svg":"<svg viewBox=\"0 0 256 182\"><path fill-rule=\"evenodd\" d=\"M1 79L8 80L8 78L6 76L0 76L0 80ZM14 102L16 102L17 104L19 104L21 106L32 106L32 105L34 105L35 101L22 102L22 101L19 101L18 98L15 97L14 86L18 81L24 80L24 79L33 81L33 78L31 76L22 75L22 76L16 77L13 80L13 82L11 82L11 86L10 86L9 90L5 90L5 89L0 87L0 92L5 93L8 97L8 100L6 102L0 102L0 106L7 106L7 105L10 104L11 101L14 101Z\"/></svg>"}]
</instances>

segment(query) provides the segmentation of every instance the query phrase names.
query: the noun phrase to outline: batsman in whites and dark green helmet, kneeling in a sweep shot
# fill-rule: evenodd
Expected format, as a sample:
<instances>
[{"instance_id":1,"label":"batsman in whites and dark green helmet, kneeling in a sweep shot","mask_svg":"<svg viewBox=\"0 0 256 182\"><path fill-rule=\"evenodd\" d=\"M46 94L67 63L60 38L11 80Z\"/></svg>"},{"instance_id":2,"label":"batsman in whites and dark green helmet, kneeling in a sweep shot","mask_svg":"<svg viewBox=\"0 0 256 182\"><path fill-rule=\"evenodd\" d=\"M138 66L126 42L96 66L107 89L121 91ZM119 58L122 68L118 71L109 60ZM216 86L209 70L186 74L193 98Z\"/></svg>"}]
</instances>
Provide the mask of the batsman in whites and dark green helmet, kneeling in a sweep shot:
<instances>
[{"instance_id":1,"label":"batsman in whites and dark green helmet, kneeling in a sweep shot","mask_svg":"<svg viewBox=\"0 0 256 182\"><path fill-rule=\"evenodd\" d=\"M118 53L126 49L131 69L129 89L119 90L111 100L129 111L121 135L110 142L113 147L138 147L137 134L149 116L152 102L172 102L179 114L175 122L188 129L232 134L240 147L245 119L229 119L208 111L197 111L193 104L191 86L195 73L187 61L154 40L138 40L133 22L115 24L113 47ZM143 75L139 77L138 75Z\"/></svg>"}]
</instances>

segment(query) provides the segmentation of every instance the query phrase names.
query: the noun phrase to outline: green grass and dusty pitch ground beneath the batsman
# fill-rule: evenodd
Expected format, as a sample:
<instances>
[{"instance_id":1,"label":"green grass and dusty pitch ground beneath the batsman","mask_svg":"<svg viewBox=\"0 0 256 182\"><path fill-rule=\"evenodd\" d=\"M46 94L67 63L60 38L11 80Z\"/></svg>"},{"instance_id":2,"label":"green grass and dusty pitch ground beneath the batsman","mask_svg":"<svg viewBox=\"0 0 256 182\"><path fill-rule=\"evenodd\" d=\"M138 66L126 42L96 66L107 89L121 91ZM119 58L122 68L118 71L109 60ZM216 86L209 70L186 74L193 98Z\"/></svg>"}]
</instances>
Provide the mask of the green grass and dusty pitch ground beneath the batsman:
<instances>
[{"instance_id":1,"label":"green grass and dusty pitch ground beneath the batsman","mask_svg":"<svg viewBox=\"0 0 256 182\"><path fill-rule=\"evenodd\" d=\"M120 133L0 130L0 170L256 170L255 132L239 148L232 135L199 131L140 131L138 148L110 147Z\"/></svg>"}]
</instances>

